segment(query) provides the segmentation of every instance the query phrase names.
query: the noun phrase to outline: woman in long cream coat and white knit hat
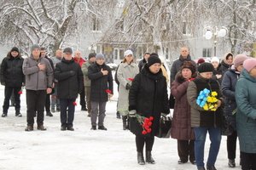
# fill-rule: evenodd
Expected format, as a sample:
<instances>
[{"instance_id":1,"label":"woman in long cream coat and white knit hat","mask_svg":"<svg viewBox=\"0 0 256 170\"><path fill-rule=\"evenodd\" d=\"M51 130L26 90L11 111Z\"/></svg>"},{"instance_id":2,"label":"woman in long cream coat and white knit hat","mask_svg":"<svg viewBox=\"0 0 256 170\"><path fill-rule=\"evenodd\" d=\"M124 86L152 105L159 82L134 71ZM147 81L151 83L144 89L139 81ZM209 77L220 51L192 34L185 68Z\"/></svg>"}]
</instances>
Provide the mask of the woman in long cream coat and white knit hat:
<instances>
[{"instance_id":1,"label":"woman in long cream coat and white knit hat","mask_svg":"<svg viewBox=\"0 0 256 170\"><path fill-rule=\"evenodd\" d=\"M133 78L139 72L138 66L133 62L133 53L130 49L125 51L125 58L123 62L119 65L117 71L117 78L119 81L119 100L117 111L122 115L123 119L123 129L128 127L128 95L131 88L131 82Z\"/></svg>"}]
</instances>

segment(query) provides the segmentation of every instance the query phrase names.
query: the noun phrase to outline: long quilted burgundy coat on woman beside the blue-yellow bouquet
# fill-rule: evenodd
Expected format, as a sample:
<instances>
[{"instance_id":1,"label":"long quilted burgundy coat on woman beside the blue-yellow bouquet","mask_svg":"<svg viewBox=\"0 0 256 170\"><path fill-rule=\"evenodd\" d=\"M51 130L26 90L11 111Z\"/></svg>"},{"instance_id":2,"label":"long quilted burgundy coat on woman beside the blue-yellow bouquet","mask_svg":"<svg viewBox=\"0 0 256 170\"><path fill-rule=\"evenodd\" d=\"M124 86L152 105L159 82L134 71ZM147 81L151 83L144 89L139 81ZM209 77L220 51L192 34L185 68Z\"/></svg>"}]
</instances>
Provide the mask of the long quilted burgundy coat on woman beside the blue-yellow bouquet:
<instances>
[{"instance_id":1,"label":"long quilted burgundy coat on woman beside the blue-yellow bouquet","mask_svg":"<svg viewBox=\"0 0 256 170\"><path fill-rule=\"evenodd\" d=\"M175 97L175 105L172 118L171 137L178 140L195 139L194 130L190 123L190 105L187 99L189 81L185 81L178 73L172 82L171 93Z\"/></svg>"}]
</instances>

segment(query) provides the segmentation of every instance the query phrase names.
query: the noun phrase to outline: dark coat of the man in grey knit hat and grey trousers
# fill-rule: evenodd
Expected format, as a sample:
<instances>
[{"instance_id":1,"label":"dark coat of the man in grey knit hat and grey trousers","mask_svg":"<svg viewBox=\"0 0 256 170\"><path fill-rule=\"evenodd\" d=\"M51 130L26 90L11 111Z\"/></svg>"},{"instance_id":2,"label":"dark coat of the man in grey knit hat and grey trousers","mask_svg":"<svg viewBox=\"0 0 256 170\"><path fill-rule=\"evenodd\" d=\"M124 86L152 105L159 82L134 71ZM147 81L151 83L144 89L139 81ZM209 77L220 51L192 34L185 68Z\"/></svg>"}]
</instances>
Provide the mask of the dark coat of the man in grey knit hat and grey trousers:
<instances>
[{"instance_id":1,"label":"dark coat of the man in grey knit hat and grey trousers","mask_svg":"<svg viewBox=\"0 0 256 170\"><path fill-rule=\"evenodd\" d=\"M108 71L108 75L103 76L101 70ZM108 65L98 65L97 63L88 67L88 77L90 79L90 100L96 102L107 102L107 89L113 94L113 77Z\"/></svg>"}]
</instances>

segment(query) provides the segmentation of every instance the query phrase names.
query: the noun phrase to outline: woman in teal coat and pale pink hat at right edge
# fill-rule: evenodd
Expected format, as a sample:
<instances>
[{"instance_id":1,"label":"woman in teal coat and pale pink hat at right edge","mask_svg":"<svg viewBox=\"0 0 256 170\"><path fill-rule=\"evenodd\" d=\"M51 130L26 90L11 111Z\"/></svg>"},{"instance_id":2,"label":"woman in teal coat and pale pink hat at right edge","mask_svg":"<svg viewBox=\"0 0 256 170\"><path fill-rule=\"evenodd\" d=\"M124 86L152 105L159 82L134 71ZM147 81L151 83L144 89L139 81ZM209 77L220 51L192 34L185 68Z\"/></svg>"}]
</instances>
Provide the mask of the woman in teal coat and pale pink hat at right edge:
<instances>
[{"instance_id":1,"label":"woman in teal coat and pale pink hat at right edge","mask_svg":"<svg viewBox=\"0 0 256 170\"><path fill-rule=\"evenodd\" d=\"M241 169L256 169L256 59L243 62L236 82L236 131L240 144Z\"/></svg>"}]
</instances>

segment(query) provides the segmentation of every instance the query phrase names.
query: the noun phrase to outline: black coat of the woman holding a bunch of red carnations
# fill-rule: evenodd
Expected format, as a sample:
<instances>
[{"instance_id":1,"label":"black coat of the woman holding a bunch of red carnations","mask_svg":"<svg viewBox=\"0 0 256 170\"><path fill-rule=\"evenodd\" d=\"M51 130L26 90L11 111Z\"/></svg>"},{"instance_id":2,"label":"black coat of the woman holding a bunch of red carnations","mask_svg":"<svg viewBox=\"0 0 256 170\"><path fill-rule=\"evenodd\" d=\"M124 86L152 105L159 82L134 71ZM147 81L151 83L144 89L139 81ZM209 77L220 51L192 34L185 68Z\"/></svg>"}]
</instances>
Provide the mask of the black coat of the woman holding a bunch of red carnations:
<instances>
[{"instance_id":1,"label":"black coat of the woman holding a bunch of red carnations","mask_svg":"<svg viewBox=\"0 0 256 170\"><path fill-rule=\"evenodd\" d=\"M159 132L160 114L170 112L166 77L161 70L157 74L149 71L148 65L134 78L129 92L129 111L136 110L140 116L153 116L152 132L146 136L154 136ZM131 133L139 136L143 127L137 122L137 118L131 118Z\"/></svg>"}]
</instances>

